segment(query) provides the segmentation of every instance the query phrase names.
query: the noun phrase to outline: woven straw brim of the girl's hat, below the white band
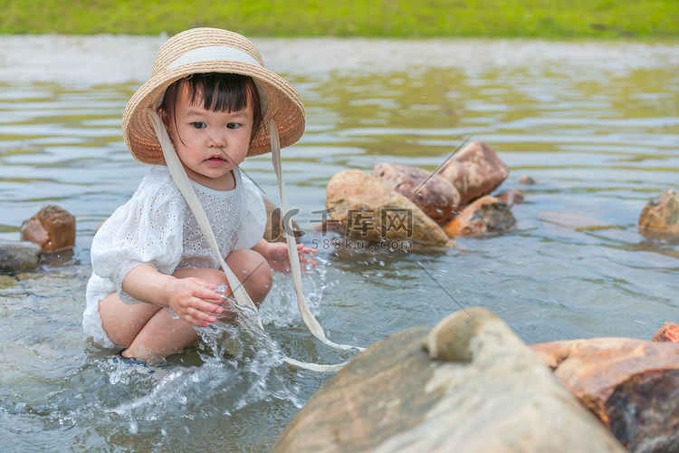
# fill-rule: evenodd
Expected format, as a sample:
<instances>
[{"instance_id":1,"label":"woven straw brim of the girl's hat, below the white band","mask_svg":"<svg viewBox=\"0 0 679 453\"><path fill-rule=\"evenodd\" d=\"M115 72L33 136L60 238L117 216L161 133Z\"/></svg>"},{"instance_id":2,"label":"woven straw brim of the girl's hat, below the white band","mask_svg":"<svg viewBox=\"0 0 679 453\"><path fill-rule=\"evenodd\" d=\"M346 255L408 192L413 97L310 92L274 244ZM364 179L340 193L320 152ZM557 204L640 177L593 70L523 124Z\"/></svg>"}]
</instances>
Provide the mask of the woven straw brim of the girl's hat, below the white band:
<instances>
[{"instance_id":1,"label":"woven straw brim of the girl's hat, below the white band","mask_svg":"<svg viewBox=\"0 0 679 453\"><path fill-rule=\"evenodd\" d=\"M259 82L268 97L268 109L263 125L254 134L247 156L258 156L271 151L269 120L274 120L281 148L300 140L304 132L304 106L300 94L280 75L262 66L231 60L186 63L167 69L144 83L129 100L122 117L122 130L129 152L139 162L149 165L164 164L163 150L153 130L148 109L155 110L158 99L167 87L179 79L195 73L236 73Z\"/></svg>"}]
</instances>

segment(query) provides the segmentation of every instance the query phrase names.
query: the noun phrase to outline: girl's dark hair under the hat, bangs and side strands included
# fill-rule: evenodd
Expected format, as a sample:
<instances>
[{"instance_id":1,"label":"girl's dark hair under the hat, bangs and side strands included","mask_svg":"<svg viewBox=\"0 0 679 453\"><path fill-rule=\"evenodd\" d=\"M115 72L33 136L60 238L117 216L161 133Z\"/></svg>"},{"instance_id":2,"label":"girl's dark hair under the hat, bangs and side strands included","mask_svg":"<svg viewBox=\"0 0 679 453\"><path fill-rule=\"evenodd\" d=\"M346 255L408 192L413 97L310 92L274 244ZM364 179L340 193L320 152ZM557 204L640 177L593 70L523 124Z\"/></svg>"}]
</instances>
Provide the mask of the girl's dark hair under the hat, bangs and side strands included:
<instances>
[{"instance_id":1,"label":"girl's dark hair under the hat, bangs and side strands included","mask_svg":"<svg viewBox=\"0 0 679 453\"><path fill-rule=\"evenodd\" d=\"M177 107L177 92L185 86L188 91L188 101L195 105L202 100L206 111L242 111L249 102L252 102L253 132L250 140L253 140L257 130L262 127L262 104L252 77L209 72L191 74L179 79L167 87L165 97L160 104L160 110L167 114L167 119L177 120L174 114Z\"/></svg>"}]
</instances>

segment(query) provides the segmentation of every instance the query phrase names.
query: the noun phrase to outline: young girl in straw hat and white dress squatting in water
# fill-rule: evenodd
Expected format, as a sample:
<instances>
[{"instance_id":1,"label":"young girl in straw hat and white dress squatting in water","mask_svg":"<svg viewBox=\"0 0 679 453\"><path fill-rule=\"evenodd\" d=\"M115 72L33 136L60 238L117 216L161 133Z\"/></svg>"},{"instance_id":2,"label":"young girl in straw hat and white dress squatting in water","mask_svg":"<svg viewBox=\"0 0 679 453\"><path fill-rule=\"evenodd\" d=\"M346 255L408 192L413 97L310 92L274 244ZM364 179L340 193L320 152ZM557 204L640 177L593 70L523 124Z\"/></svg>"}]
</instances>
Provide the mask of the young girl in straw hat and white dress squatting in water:
<instances>
[{"instance_id":1,"label":"young girl in straw hat and white dress squatting in water","mask_svg":"<svg viewBox=\"0 0 679 453\"><path fill-rule=\"evenodd\" d=\"M123 115L129 151L154 167L92 241L85 333L156 363L225 314L218 284L260 304L272 269L298 260L289 258L294 246L263 239L262 196L238 165L303 129L299 94L243 36L200 28L169 39ZM315 265L315 250L297 253Z\"/></svg>"}]
</instances>

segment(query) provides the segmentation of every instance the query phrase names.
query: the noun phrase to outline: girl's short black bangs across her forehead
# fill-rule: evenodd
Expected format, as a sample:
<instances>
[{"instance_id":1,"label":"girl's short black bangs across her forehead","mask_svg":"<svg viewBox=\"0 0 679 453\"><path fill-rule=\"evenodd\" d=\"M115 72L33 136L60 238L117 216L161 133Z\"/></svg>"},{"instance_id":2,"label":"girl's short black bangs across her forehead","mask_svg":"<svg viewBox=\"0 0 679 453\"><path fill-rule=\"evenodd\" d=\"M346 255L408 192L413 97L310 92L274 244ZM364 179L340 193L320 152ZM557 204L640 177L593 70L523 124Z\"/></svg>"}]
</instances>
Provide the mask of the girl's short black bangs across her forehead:
<instances>
[{"instance_id":1,"label":"girl's short black bangs across her forehead","mask_svg":"<svg viewBox=\"0 0 679 453\"><path fill-rule=\"evenodd\" d=\"M206 111L242 111L251 99L259 103L253 79L246 75L218 72L193 74L182 82L188 88L190 102L196 104L196 100L202 100ZM253 107L255 111L258 110L258 106Z\"/></svg>"}]
</instances>

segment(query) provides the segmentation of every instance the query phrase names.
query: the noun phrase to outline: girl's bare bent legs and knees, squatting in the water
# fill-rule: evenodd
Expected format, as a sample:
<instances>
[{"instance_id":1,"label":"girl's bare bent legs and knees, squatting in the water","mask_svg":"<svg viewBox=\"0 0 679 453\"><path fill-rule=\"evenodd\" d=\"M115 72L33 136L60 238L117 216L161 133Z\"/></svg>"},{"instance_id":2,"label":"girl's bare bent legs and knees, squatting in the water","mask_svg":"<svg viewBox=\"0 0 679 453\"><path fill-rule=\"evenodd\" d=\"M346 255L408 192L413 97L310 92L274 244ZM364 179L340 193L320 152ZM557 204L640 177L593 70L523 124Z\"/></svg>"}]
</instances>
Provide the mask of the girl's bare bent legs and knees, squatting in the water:
<instances>
[{"instance_id":1,"label":"girl's bare bent legs and knees, squatting in the water","mask_svg":"<svg viewBox=\"0 0 679 453\"><path fill-rule=\"evenodd\" d=\"M262 255L252 250L234 250L226 264L243 284L255 304L261 304L272 284L271 268ZM228 284L221 270L206 268L181 269L177 278L197 277L211 284ZM198 338L193 325L172 319L162 307L152 304L128 305L118 294L110 294L100 304L101 323L111 342L128 349L125 357L150 363L161 361Z\"/></svg>"}]
</instances>

